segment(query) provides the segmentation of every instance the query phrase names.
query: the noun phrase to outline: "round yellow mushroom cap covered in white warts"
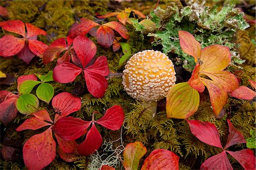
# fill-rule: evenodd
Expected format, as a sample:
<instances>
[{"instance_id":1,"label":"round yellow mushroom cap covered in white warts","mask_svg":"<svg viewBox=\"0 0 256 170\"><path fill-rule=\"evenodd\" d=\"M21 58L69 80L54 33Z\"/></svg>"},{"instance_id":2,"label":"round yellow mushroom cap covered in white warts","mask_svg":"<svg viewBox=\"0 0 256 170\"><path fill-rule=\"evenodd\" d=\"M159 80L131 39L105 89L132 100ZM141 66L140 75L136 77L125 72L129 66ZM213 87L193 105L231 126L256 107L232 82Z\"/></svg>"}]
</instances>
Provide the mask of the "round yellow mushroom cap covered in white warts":
<instances>
[{"instance_id":1,"label":"round yellow mushroom cap covered in white warts","mask_svg":"<svg viewBox=\"0 0 256 170\"><path fill-rule=\"evenodd\" d=\"M143 50L134 54L123 70L123 87L127 94L142 101L166 97L176 81L172 61L159 51Z\"/></svg>"}]
</instances>

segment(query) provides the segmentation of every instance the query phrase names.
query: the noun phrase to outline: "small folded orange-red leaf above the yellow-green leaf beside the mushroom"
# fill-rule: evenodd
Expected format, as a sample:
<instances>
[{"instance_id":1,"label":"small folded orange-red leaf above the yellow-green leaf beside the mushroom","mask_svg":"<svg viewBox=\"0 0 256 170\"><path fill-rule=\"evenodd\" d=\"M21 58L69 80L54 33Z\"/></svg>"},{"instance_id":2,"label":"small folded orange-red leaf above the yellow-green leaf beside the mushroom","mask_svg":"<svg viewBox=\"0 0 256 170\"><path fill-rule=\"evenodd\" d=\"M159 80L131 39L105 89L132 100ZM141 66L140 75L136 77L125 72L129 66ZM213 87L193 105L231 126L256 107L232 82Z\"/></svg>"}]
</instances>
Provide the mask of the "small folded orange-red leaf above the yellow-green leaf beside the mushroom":
<instances>
[{"instance_id":1,"label":"small folded orange-red leaf above the yellow-green leaf beside the mushroom","mask_svg":"<svg viewBox=\"0 0 256 170\"><path fill-rule=\"evenodd\" d=\"M191 78L188 80L188 84L195 90L199 92L203 92L205 86L199 77L199 69L200 69L200 64L196 64L196 67L193 70Z\"/></svg>"}]
</instances>

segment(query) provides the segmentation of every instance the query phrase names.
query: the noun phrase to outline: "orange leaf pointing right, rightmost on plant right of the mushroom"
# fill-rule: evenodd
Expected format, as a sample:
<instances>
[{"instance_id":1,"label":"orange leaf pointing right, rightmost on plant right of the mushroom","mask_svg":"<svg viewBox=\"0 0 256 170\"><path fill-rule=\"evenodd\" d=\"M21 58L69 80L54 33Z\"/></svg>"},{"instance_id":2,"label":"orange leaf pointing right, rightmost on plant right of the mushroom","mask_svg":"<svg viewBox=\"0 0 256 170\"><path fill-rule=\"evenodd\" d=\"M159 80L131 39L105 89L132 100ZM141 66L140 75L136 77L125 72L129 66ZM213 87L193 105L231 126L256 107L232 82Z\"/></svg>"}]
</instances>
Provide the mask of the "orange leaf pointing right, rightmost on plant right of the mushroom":
<instances>
[{"instance_id":1,"label":"orange leaf pointing right, rightmost on plant right of the mushroom","mask_svg":"<svg viewBox=\"0 0 256 170\"><path fill-rule=\"evenodd\" d=\"M204 74L222 86L222 90L228 93L233 92L239 86L236 76L229 71L204 71Z\"/></svg>"}]
</instances>

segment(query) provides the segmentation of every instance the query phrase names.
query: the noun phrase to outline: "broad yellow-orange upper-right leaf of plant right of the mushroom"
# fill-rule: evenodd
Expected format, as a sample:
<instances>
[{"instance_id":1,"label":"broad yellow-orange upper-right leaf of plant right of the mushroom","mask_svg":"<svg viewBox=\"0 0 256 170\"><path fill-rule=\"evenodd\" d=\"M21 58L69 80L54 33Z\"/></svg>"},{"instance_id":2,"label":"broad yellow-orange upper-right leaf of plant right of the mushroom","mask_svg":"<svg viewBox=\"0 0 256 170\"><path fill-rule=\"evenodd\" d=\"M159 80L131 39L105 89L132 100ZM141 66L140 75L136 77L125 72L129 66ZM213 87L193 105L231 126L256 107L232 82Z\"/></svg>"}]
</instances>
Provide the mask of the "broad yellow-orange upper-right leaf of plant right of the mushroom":
<instances>
[{"instance_id":1,"label":"broad yellow-orange upper-right leaf of plant right of the mushroom","mask_svg":"<svg viewBox=\"0 0 256 170\"><path fill-rule=\"evenodd\" d=\"M200 73L224 70L231 61L231 53L227 46L210 45L201 50L200 61Z\"/></svg>"}]
</instances>

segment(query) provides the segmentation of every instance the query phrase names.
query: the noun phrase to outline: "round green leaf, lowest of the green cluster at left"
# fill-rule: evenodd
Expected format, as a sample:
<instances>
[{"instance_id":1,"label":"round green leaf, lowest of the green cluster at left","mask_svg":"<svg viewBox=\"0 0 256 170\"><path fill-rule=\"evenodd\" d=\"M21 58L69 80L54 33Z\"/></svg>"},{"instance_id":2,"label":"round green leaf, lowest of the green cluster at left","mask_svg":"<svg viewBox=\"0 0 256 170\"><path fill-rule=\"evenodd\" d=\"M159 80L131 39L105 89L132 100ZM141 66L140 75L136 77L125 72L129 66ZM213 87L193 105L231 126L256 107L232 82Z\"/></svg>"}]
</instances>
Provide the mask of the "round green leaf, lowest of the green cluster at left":
<instances>
[{"instance_id":1,"label":"round green leaf, lowest of the green cluster at left","mask_svg":"<svg viewBox=\"0 0 256 170\"><path fill-rule=\"evenodd\" d=\"M32 94L24 94L19 96L16 103L16 108L22 114L30 114L38 111L39 100L38 97Z\"/></svg>"}]
</instances>

